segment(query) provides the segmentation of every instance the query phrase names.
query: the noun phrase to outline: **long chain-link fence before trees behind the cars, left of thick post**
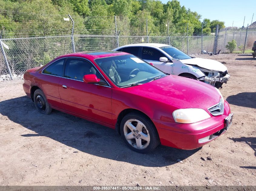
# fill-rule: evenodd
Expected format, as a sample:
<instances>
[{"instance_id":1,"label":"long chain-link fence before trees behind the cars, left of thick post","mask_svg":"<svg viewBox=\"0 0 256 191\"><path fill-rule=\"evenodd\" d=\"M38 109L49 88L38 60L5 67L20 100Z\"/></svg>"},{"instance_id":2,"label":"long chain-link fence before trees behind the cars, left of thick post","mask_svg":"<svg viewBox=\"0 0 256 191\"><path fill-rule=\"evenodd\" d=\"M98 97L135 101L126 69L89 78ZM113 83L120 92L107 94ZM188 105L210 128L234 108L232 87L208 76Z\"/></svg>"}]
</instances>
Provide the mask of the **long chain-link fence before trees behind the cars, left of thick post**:
<instances>
[{"instance_id":1,"label":"long chain-link fence before trees behind the cars, left of thick post","mask_svg":"<svg viewBox=\"0 0 256 191\"><path fill-rule=\"evenodd\" d=\"M44 65L59 55L112 50L134 43L163 43L187 54L212 51L215 34L168 21L154 23L147 18L81 17L45 15L0 10L2 49L0 75L22 75L27 69ZM7 45L7 46L6 46ZM4 57L4 53L5 56ZM8 70L8 66L10 71Z\"/></svg>"}]
</instances>

